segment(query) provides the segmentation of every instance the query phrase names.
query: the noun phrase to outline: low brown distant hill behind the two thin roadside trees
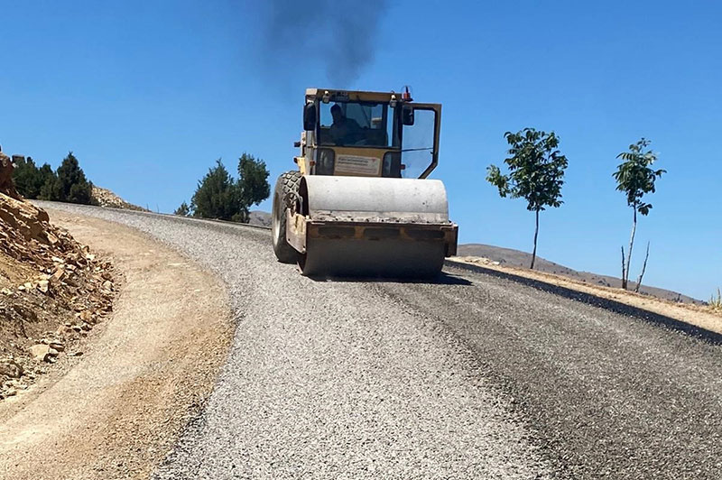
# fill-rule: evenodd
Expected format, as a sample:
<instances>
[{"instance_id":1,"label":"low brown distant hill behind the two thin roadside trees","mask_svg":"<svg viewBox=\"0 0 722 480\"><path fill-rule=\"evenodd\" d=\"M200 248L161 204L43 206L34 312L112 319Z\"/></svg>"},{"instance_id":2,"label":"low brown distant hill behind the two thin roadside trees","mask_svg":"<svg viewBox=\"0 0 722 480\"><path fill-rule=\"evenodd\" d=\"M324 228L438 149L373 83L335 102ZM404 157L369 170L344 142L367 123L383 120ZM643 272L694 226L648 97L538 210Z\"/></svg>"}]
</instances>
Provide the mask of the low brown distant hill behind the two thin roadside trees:
<instances>
[{"instance_id":1,"label":"low brown distant hill behind the two thin roadside trees","mask_svg":"<svg viewBox=\"0 0 722 480\"><path fill-rule=\"evenodd\" d=\"M529 268L529 264L532 263L532 254L514 250L511 248L503 248L494 245L484 244L464 244L458 245L458 256L477 256L488 258L491 261L498 262L500 265L507 265L513 267ZM621 288L622 281L616 277L610 277L607 275L600 275L591 272L578 272L576 270L560 265L559 263L553 263L549 260L545 260L542 257L536 257L534 264L534 270L539 272L555 273L557 275L563 275L579 282L585 282L590 284L602 285L605 287ZM630 287L634 289L636 282L629 282ZM639 289L641 293L652 295L653 297L671 300L681 301L685 303L702 303L697 299L682 295L677 291L669 291L664 289L658 289L656 287L649 287L642 285Z\"/></svg>"}]
</instances>

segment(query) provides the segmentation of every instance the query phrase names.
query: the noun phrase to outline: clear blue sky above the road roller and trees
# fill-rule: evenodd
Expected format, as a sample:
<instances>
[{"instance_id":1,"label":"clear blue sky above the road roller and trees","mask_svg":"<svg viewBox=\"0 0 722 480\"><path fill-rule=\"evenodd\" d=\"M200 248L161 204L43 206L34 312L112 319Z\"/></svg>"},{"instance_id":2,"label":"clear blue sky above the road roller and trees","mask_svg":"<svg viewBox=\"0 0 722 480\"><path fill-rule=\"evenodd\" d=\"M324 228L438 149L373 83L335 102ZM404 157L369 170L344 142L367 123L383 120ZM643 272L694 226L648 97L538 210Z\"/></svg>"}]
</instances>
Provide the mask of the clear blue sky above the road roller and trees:
<instances>
[{"instance_id":1,"label":"clear blue sky above the road roller and trees","mask_svg":"<svg viewBox=\"0 0 722 480\"><path fill-rule=\"evenodd\" d=\"M235 170L253 153L272 181L291 170L305 88L410 84L444 105L433 176L461 242L531 251L532 213L498 197L486 166L503 161L505 131L554 130L565 203L542 214L539 254L618 275L632 213L611 174L644 136L668 173L640 220L633 276L651 240L646 282L703 300L722 286L722 4L389 3L340 45L329 32L342 19L270 23L269 5L0 0L0 144L53 166L72 150L97 185L168 212L218 157ZM366 42L356 78L329 74L324 57Z\"/></svg>"}]
</instances>

